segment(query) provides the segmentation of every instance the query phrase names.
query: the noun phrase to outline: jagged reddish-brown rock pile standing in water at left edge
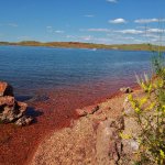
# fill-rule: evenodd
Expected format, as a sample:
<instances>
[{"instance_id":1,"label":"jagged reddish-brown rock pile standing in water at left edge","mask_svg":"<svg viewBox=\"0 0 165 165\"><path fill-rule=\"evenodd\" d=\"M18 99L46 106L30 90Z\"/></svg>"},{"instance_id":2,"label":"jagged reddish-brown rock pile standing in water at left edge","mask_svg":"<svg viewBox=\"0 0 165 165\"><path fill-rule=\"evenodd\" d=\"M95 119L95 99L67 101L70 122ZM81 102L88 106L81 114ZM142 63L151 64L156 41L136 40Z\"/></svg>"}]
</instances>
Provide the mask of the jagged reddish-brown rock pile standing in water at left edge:
<instances>
[{"instance_id":1,"label":"jagged reddish-brown rock pile standing in water at left edge","mask_svg":"<svg viewBox=\"0 0 165 165\"><path fill-rule=\"evenodd\" d=\"M13 88L6 81L0 81L0 122L28 125L32 118L25 116L28 105L16 101Z\"/></svg>"}]
</instances>

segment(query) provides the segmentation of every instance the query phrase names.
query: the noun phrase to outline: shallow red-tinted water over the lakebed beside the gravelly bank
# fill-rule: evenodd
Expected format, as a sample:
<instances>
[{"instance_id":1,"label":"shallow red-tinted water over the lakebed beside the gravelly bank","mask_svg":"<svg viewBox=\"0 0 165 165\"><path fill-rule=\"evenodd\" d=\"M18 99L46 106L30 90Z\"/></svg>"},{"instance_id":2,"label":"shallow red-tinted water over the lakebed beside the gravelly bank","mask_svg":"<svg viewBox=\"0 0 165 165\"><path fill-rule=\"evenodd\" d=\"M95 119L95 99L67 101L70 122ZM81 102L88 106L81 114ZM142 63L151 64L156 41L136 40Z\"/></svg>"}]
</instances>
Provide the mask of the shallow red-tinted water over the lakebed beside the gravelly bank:
<instances>
[{"instance_id":1,"label":"shallow red-tinted water over the lakebed beside the gravelly bank","mask_svg":"<svg viewBox=\"0 0 165 165\"><path fill-rule=\"evenodd\" d=\"M11 88L12 89L12 88ZM111 98L121 95L118 92ZM78 119L74 109L101 102L106 99L91 97L73 90L56 90L48 94L48 100L29 101L26 114L33 118L32 124L18 127L15 124L0 124L0 164L23 165L31 161L38 144L53 131L72 125Z\"/></svg>"}]
</instances>

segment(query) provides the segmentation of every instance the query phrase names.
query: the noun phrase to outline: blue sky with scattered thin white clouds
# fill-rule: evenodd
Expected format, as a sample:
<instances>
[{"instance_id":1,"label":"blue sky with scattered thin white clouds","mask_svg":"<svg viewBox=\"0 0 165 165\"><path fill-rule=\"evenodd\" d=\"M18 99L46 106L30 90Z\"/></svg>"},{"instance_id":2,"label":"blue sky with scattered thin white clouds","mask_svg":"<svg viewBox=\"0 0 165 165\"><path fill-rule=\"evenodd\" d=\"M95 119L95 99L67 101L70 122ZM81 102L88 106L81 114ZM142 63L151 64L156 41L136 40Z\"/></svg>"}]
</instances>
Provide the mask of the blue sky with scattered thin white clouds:
<instances>
[{"instance_id":1,"label":"blue sky with scattered thin white clouds","mask_svg":"<svg viewBox=\"0 0 165 165\"><path fill-rule=\"evenodd\" d=\"M0 0L0 41L164 44L165 0Z\"/></svg>"}]
</instances>

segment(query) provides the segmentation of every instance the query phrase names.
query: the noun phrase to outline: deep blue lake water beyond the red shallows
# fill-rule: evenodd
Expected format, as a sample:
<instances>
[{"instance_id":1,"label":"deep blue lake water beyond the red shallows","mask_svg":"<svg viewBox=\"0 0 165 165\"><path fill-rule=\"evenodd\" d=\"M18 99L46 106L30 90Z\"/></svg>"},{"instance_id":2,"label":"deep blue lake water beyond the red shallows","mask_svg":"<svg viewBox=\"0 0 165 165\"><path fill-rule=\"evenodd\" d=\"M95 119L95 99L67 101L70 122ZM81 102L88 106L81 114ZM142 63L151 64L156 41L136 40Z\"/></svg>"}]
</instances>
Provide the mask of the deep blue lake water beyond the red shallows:
<instances>
[{"instance_id":1,"label":"deep blue lake water beyond the red shallows","mask_svg":"<svg viewBox=\"0 0 165 165\"><path fill-rule=\"evenodd\" d=\"M150 52L0 46L0 79L26 89L86 85L99 92L135 82L134 75L148 72ZM109 89L109 90L108 90Z\"/></svg>"}]
</instances>

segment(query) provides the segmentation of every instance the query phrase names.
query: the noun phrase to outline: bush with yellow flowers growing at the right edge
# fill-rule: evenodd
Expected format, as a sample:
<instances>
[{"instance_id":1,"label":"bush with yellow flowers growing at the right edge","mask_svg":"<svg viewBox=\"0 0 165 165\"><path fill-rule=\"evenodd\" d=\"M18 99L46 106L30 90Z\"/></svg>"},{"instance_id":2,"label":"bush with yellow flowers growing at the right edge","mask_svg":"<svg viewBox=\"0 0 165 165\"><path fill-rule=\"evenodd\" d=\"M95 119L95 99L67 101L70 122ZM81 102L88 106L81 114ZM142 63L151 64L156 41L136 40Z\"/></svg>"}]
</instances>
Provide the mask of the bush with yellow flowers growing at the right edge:
<instances>
[{"instance_id":1,"label":"bush with yellow flowers growing at the right edge","mask_svg":"<svg viewBox=\"0 0 165 165\"><path fill-rule=\"evenodd\" d=\"M134 110L134 119L141 129L135 139L139 142L135 165L165 165L165 65L163 55L153 59L154 76L136 76L145 96L129 101Z\"/></svg>"}]
</instances>

